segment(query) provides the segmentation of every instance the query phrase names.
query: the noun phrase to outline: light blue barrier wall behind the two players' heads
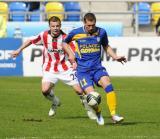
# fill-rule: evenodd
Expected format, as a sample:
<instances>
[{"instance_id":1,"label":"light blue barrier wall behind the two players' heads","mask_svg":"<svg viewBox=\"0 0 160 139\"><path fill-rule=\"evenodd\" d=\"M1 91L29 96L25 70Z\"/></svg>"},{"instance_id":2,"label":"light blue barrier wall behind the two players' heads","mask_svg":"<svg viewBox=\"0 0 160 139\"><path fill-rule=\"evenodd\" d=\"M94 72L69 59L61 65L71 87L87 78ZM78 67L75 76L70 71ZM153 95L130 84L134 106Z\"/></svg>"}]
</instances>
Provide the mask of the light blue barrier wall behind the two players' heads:
<instances>
[{"instance_id":1,"label":"light blue barrier wall behind the two players' heads","mask_svg":"<svg viewBox=\"0 0 160 139\"><path fill-rule=\"evenodd\" d=\"M82 26L82 22L62 22L62 29L68 33L73 28ZM97 22L97 26L104 28L108 36L123 36L123 24L121 22ZM47 30L48 22L8 22L7 36L13 37L15 28L21 28L24 37L34 36Z\"/></svg>"}]
</instances>

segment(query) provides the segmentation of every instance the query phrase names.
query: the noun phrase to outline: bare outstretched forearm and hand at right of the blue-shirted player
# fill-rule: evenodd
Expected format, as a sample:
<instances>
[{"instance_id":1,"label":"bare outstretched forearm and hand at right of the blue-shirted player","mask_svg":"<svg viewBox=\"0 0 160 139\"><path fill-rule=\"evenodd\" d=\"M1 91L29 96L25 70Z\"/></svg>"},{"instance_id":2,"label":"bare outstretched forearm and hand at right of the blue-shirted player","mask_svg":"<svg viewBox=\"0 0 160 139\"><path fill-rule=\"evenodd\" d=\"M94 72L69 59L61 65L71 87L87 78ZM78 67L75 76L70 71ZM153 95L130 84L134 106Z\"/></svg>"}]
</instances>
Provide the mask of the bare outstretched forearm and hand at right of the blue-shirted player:
<instances>
[{"instance_id":1,"label":"bare outstretched forearm and hand at right of the blue-shirted player","mask_svg":"<svg viewBox=\"0 0 160 139\"><path fill-rule=\"evenodd\" d=\"M126 63L127 60L124 56L117 56L117 54L113 51L113 49L108 46L106 47L106 52L116 61L123 63Z\"/></svg>"}]
</instances>

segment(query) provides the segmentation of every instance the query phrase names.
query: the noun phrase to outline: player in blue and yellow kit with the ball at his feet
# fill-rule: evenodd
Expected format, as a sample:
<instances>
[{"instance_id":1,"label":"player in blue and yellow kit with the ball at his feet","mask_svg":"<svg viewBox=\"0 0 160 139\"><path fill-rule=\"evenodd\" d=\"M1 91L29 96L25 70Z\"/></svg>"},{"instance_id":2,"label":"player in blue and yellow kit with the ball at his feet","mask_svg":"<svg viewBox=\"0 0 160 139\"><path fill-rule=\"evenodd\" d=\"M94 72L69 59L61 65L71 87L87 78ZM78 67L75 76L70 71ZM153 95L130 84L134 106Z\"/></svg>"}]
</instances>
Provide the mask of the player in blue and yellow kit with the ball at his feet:
<instances>
[{"instance_id":1,"label":"player in blue and yellow kit with the ball at his feet","mask_svg":"<svg viewBox=\"0 0 160 139\"><path fill-rule=\"evenodd\" d=\"M93 101L90 94L95 94L94 83L101 86L106 92L106 103L114 123L123 121L123 117L116 113L116 93L109 78L109 74L101 64L102 47L114 60L126 62L124 56L117 56L108 43L107 33L103 28L96 26L96 17L93 13L87 13L83 20L84 26L72 30L64 41L63 48L68 53L69 59L74 65L77 62L77 77L88 100ZM76 54L68 49L68 44L76 42ZM75 61L76 58L76 61ZM75 65L76 67L76 65ZM88 103L89 104L89 103ZM98 103L97 103L98 104ZM97 123L104 125L99 105L94 106L97 114Z\"/></svg>"}]
</instances>

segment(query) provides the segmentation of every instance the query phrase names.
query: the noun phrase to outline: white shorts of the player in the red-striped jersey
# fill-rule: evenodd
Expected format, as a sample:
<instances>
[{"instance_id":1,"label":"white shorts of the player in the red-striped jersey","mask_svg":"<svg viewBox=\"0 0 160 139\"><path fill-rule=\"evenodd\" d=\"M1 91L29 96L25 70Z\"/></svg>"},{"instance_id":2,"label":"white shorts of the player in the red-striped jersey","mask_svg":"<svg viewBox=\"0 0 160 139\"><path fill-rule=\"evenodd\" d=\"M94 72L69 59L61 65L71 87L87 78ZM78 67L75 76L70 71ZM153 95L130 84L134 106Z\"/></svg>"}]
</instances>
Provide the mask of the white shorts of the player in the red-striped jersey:
<instances>
[{"instance_id":1,"label":"white shorts of the player in the red-striped jersey","mask_svg":"<svg viewBox=\"0 0 160 139\"><path fill-rule=\"evenodd\" d=\"M43 72L42 82L51 82L53 84L56 84L58 80L61 80L65 84L73 86L78 84L78 80L75 73L76 71L73 71L72 69L58 73L51 73L45 71Z\"/></svg>"}]
</instances>

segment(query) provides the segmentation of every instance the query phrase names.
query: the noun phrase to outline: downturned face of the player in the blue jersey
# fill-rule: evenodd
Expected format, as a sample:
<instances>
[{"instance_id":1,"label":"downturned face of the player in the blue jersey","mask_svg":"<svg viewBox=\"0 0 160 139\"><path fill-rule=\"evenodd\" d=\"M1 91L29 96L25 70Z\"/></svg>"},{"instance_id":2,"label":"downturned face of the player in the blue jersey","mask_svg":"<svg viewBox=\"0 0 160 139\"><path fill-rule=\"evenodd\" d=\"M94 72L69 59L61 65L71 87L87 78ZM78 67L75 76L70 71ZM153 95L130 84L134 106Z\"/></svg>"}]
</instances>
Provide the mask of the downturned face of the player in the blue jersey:
<instances>
[{"instance_id":1,"label":"downturned face of the player in the blue jersey","mask_svg":"<svg viewBox=\"0 0 160 139\"><path fill-rule=\"evenodd\" d=\"M86 22L84 22L84 27L87 33L94 33L96 30L96 22L95 21L89 21L86 20Z\"/></svg>"}]
</instances>

